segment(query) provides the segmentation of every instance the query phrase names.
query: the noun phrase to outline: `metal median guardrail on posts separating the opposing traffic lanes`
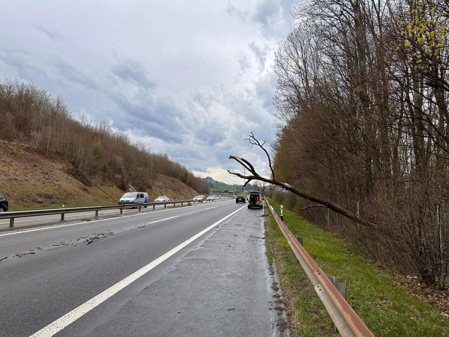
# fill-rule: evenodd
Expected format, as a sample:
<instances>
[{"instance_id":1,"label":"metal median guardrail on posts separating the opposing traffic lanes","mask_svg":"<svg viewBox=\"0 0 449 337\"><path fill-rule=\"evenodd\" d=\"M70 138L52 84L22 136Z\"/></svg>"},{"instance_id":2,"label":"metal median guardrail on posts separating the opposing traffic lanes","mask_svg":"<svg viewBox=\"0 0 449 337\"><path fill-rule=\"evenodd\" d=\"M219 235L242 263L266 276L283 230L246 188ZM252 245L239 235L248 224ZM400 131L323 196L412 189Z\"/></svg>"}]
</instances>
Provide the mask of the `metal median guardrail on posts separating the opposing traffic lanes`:
<instances>
[{"instance_id":1,"label":"metal median guardrail on posts separating the opposing traffic lanes","mask_svg":"<svg viewBox=\"0 0 449 337\"><path fill-rule=\"evenodd\" d=\"M232 198L217 198L216 200L205 200L205 201L213 202L213 201L224 201L228 199ZM180 201L166 201L166 202L151 202L144 204L119 204L109 206L89 206L89 207L53 208L53 209L32 210L32 211L1 212L0 219L9 219L9 227L14 227L14 219L16 218L60 214L62 221L64 220L64 215L67 213L81 213L81 212L95 212L95 218L98 218L98 212L104 210L120 209L120 214L122 214L124 209L130 208L139 208L140 212L142 207L146 208L148 206L153 206L153 209L155 209L157 205L164 205L164 208L166 208L167 205L173 204L173 207L176 207L176 204L181 204L181 206L183 206L184 204L190 205L191 203L195 204L196 202L199 203L198 200L180 200Z\"/></svg>"}]
</instances>

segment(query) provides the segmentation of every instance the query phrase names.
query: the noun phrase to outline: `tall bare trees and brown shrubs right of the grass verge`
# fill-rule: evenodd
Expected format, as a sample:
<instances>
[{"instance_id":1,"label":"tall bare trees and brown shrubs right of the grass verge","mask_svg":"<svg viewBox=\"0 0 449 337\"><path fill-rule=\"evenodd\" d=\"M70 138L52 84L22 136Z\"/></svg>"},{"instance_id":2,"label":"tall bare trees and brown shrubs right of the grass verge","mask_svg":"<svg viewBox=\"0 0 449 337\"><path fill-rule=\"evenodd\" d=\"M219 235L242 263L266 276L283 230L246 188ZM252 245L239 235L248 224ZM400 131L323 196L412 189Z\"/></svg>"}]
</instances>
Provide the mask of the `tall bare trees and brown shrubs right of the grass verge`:
<instances>
[{"instance_id":1,"label":"tall bare trees and brown shrubs right of the grass verge","mask_svg":"<svg viewBox=\"0 0 449 337\"><path fill-rule=\"evenodd\" d=\"M382 265L445 288L449 1L309 0L292 13L275 60L274 172L373 226L276 198Z\"/></svg>"}]
</instances>

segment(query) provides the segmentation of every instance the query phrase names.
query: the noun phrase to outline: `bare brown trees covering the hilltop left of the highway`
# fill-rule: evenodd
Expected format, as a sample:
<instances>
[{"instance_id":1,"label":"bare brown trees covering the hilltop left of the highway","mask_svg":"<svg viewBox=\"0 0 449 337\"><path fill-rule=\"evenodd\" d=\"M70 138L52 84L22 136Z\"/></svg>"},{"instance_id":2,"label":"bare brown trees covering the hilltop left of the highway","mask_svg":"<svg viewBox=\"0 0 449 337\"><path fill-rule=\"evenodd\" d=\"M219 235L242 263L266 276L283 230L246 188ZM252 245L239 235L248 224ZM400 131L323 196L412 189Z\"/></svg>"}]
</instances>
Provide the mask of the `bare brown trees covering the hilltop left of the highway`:
<instances>
[{"instance_id":1,"label":"bare brown trees covering the hilltop left of the highway","mask_svg":"<svg viewBox=\"0 0 449 337\"><path fill-rule=\"evenodd\" d=\"M0 139L61 158L69 164L69 173L85 184L89 177L98 176L123 190L129 183L146 190L156 174L163 174L199 193L209 192L204 179L167 154L150 153L145 144L132 142L126 133L113 131L104 122L92 125L85 118L73 118L67 103L46 89L4 79L0 82L0 116Z\"/></svg>"}]
</instances>

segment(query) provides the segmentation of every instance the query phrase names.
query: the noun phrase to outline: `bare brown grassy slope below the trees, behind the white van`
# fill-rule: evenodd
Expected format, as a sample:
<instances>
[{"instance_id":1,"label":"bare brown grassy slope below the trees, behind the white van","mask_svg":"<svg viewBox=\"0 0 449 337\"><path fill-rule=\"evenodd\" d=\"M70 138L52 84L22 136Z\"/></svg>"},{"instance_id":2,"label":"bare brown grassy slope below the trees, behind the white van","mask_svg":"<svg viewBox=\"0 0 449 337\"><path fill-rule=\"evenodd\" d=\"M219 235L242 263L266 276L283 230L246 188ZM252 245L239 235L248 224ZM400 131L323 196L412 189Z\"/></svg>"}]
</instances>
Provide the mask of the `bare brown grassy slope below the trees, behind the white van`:
<instances>
[{"instance_id":1,"label":"bare brown grassy slope below the trees, behind the white van","mask_svg":"<svg viewBox=\"0 0 449 337\"><path fill-rule=\"evenodd\" d=\"M73 173L71 165L58 157L45 157L29 145L0 140L0 147L0 193L8 197L10 211L111 205L124 193L98 176L74 178L69 173ZM85 179L87 185L80 181ZM161 174L150 185L146 189L150 200L159 195L180 200L199 194L180 180Z\"/></svg>"}]
</instances>

